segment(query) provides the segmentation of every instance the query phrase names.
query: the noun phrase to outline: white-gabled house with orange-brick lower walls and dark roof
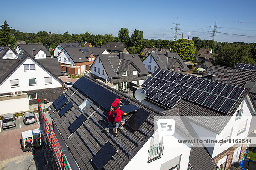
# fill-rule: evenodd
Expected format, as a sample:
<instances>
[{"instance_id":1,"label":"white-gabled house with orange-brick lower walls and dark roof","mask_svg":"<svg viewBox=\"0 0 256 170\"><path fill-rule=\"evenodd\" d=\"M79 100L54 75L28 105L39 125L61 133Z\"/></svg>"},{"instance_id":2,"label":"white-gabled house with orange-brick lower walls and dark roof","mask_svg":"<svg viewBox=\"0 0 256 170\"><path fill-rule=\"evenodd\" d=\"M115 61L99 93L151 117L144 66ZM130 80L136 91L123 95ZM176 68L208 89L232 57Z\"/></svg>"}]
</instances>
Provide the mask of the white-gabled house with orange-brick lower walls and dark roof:
<instances>
[{"instance_id":1,"label":"white-gabled house with orange-brick lower walls and dark roof","mask_svg":"<svg viewBox=\"0 0 256 170\"><path fill-rule=\"evenodd\" d=\"M84 74L90 70L97 54L109 54L105 48L97 47L64 47L58 54L61 71L71 74Z\"/></svg>"}]
</instances>

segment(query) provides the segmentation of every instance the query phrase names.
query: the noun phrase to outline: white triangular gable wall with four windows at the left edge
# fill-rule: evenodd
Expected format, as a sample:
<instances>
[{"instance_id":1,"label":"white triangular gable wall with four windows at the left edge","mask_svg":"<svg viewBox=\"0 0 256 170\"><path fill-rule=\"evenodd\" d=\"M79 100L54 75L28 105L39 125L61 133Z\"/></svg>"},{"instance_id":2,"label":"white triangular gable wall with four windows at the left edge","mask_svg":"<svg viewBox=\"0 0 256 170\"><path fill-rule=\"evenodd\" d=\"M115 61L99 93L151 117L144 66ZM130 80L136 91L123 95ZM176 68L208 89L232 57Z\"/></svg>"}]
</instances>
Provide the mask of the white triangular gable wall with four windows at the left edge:
<instances>
[{"instance_id":1,"label":"white triangular gable wall with four windows at the left edge","mask_svg":"<svg viewBox=\"0 0 256 170\"><path fill-rule=\"evenodd\" d=\"M24 71L24 64L35 64L35 71ZM46 88L62 87L61 83L52 77L52 84L45 84L44 77L52 77L40 65L27 58L1 85L0 94L15 91L31 91ZM29 85L29 79L36 78L36 85ZM11 87L10 80L19 80L19 87Z\"/></svg>"}]
</instances>

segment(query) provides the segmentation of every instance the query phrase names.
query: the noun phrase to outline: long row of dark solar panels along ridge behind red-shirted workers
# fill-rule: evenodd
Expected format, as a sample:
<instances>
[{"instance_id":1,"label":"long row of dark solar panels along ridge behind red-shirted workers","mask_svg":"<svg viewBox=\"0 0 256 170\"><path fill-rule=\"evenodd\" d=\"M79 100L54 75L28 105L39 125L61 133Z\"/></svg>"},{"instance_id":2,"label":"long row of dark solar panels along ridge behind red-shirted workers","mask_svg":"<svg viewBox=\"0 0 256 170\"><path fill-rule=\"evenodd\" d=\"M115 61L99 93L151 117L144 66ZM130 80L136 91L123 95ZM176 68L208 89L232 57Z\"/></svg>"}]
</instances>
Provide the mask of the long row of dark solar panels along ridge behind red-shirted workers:
<instances>
[{"instance_id":1,"label":"long row of dark solar panels along ridge behind red-shirted workers","mask_svg":"<svg viewBox=\"0 0 256 170\"><path fill-rule=\"evenodd\" d=\"M108 91L106 88L98 85L97 83L90 81L85 77L81 77L78 79L73 86L76 86L80 91L93 99L99 105L101 105L106 110L109 110L111 104L114 102L116 98L119 98L118 95L114 94L111 91ZM126 105L129 102L125 99L122 99L122 102Z\"/></svg>"}]
</instances>

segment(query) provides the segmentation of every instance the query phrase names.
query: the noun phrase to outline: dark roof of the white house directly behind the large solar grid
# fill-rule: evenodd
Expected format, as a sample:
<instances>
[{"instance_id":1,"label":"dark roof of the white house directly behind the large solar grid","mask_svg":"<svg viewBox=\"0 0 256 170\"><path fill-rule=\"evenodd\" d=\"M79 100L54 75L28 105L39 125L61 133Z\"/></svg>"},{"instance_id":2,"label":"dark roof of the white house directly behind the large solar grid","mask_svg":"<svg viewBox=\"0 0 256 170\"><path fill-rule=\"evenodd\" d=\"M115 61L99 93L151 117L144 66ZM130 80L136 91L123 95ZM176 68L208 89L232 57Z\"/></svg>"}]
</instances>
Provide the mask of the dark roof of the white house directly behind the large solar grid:
<instances>
[{"instance_id":1,"label":"dark roof of the white house directly behind the large solar grid","mask_svg":"<svg viewBox=\"0 0 256 170\"><path fill-rule=\"evenodd\" d=\"M183 62L183 60L177 53L168 53L168 57L166 57L166 54L163 53L150 53L148 54L148 56L149 55L151 55L154 58L154 61L161 69L171 69L176 62L179 62L179 64L182 67L182 71L189 71L189 68L186 66L185 62Z\"/></svg>"}]
</instances>

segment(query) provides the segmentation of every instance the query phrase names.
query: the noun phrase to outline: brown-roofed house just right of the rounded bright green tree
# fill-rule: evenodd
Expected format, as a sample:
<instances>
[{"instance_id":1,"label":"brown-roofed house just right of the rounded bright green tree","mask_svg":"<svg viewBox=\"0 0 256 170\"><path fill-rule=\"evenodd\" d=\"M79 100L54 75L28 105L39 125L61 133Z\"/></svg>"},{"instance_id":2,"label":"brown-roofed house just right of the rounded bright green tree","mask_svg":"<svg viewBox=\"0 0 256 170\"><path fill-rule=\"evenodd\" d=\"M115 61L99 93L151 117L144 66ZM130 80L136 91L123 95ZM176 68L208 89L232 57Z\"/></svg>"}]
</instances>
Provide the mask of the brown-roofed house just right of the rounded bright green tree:
<instances>
[{"instance_id":1,"label":"brown-roofed house just right of the rounded bright green tree","mask_svg":"<svg viewBox=\"0 0 256 170\"><path fill-rule=\"evenodd\" d=\"M197 67L200 67L200 65L204 62L213 62L216 55L218 54L212 53L212 49L200 48L195 59L195 62L198 63Z\"/></svg>"}]
</instances>

